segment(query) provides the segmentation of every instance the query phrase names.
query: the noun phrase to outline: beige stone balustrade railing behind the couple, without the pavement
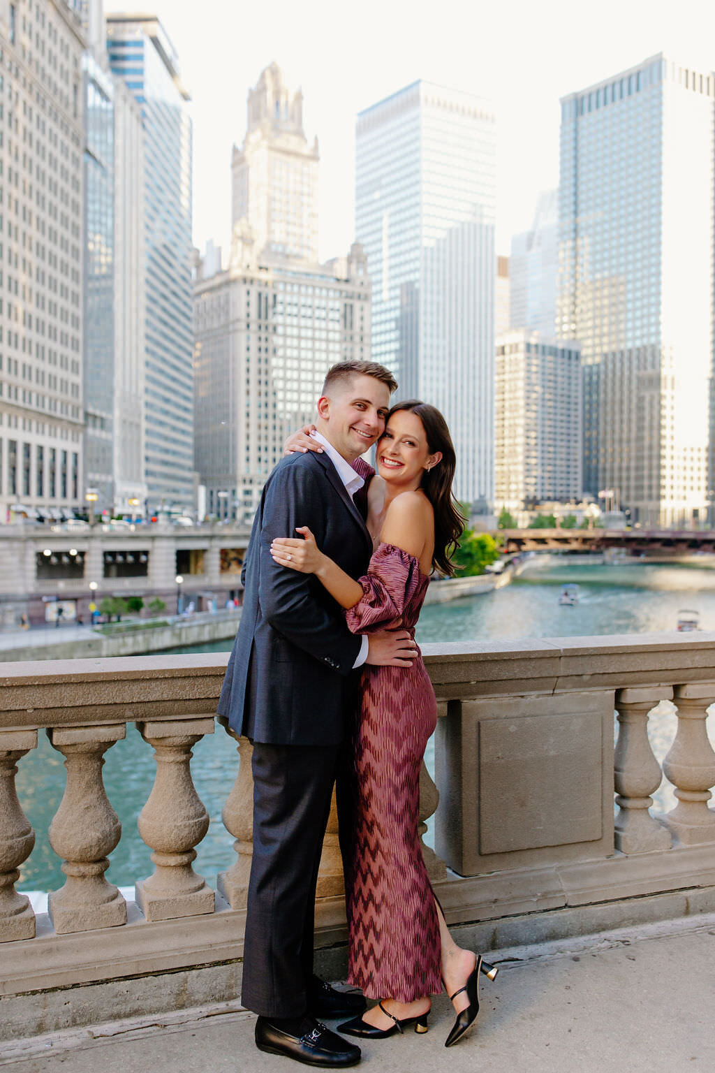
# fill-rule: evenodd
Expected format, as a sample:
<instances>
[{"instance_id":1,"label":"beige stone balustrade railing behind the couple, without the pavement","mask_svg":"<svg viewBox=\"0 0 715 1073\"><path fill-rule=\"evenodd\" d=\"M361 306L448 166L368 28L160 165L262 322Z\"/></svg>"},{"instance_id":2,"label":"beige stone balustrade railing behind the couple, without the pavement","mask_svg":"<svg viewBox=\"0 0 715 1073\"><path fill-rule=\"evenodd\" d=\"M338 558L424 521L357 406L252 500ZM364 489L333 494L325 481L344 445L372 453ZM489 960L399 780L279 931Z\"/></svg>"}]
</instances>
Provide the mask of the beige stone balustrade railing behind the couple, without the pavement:
<instances>
[{"instance_id":1,"label":"beige stone balustrade railing behind the couple, without the pavement","mask_svg":"<svg viewBox=\"0 0 715 1073\"><path fill-rule=\"evenodd\" d=\"M715 635L426 645L424 656L440 719L435 781L427 769L420 781L420 835L434 814L435 844L423 847L424 858L448 923L463 938L494 949L715 909L715 753L705 725L715 702ZM131 1006L116 990L102 998L113 981L133 980L122 994L144 996L145 1010L238 993L252 851L251 745L214 719L226 659L3 665L0 1012L10 1027L0 1038L20 1024L31 1030L30 1014L20 1011L34 1009L33 995L42 1006L36 1025L87 1023L87 1002L75 1009L48 997L78 984L86 998L94 988L95 1020L105 1005L105 1019ZM647 724L664 701L674 705L677 732L661 766ZM121 832L102 766L129 722L154 750L155 778L138 820L154 870L134 878L134 900L126 902L104 878ZM226 739L227 764L238 751L222 813L235 855L228 850L215 892L193 868L209 818L191 775L193 747L214 731L235 739ZM15 890L34 844L15 775L41 732L66 767L49 831L66 881L35 921ZM651 807L664 774L677 804L658 818ZM316 910L318 959L328 972L344 955L342 894L333 808Z\"/></svg>"}]
</instances>

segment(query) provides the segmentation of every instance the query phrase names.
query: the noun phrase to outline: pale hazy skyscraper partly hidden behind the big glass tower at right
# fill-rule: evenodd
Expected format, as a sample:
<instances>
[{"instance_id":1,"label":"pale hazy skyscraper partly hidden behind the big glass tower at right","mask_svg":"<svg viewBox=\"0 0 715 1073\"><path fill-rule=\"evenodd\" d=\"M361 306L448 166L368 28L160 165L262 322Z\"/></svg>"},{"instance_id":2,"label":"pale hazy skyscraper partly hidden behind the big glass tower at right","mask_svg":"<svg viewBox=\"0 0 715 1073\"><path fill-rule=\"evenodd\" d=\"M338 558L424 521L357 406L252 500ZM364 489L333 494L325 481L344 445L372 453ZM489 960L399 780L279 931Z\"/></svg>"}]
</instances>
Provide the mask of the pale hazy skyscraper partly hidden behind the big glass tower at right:
<instances>
[{"instance_id":1,"label":"pale hazy skyscraper partly hidden behind the big glass tower at right","mask_svg":"<svg viewBox=\"0 0 715 1073\"><path fill-rule=\"evenodd\" d=\"M509 327L556 338L558 191L539 195L530 231L511 239Z\"/></svg>"}]
</instances>

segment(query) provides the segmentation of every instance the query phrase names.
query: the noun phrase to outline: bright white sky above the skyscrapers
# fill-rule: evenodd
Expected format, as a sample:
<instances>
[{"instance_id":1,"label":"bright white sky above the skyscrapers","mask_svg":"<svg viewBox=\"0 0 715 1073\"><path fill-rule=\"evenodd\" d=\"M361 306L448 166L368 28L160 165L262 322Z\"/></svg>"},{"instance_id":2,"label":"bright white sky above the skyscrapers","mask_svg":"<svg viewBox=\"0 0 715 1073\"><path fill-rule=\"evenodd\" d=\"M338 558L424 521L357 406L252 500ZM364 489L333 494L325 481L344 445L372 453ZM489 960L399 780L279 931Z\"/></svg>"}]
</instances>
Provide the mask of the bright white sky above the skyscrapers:
<instances>
[{"instance_id":1,"label":"bright white sky above the skyscrapers","mask_svg":"<svg viewBox=\"0 0 715 1073\"><path fill-rule=\"evenodd\" d=\"M105 0L105 10L140 5ZM715 68L712 0L146 0L180 58L194 120L194 241L227 246L230 149L245 100L275 60L303 90L318 137L319 245L354 239L355 116L417 78L490 99L497 113L496 245L558 181L558 99L665 52ZM706 46L710 45L710 52Z\"/></svg>"}]
</instances>

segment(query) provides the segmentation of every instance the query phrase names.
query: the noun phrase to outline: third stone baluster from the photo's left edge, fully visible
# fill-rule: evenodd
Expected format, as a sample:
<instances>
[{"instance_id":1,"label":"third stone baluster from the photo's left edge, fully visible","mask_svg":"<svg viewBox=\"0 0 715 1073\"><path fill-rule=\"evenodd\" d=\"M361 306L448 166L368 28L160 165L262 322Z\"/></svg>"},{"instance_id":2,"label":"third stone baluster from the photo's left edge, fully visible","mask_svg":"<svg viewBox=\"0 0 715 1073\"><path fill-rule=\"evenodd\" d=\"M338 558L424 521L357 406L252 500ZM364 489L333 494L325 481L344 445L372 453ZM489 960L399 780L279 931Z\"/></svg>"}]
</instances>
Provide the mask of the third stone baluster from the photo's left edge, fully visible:
<instances>
[{"instance_id":1,"label":"third stone baluster from the photo's left edge, fully visible","mask_svg":"<svg viewBox=\"0 0 715 1073\"><path fill-rule=\"evenodd\" d=\"M135 885L136 902L148 921L212 913L215 896L192 864L194 846L209 828L209 818L191 778L192 748L213 734L213 719L137 723L153 746L157 776L138 820L139 835L154 852L154 871Z\"/></svg>"}]
</instances>

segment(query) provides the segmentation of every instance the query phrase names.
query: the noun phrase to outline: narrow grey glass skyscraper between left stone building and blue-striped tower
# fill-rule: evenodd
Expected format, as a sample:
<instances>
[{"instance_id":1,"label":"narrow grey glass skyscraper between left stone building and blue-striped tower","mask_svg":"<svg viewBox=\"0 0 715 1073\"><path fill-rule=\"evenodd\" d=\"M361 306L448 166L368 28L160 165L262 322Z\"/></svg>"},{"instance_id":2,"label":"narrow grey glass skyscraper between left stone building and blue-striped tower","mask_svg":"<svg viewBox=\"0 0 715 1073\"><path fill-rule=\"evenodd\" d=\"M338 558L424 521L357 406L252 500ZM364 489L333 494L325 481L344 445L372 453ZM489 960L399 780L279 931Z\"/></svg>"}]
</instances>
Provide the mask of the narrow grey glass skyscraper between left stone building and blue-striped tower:
<instances>
[{"instance_id":1,"label":"narrow grey glass skyscraper between left stone building and blue-striped tower","mask_svg":"<svg viewBox=\"0 0 715 1073\"><path fill-rule=\"evenodd\" d=\"M85 485L95 510L139 514L144 477L144 132L109 71L102 0L84 3Z\"/></svg>"}]
</instances>

